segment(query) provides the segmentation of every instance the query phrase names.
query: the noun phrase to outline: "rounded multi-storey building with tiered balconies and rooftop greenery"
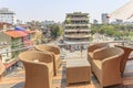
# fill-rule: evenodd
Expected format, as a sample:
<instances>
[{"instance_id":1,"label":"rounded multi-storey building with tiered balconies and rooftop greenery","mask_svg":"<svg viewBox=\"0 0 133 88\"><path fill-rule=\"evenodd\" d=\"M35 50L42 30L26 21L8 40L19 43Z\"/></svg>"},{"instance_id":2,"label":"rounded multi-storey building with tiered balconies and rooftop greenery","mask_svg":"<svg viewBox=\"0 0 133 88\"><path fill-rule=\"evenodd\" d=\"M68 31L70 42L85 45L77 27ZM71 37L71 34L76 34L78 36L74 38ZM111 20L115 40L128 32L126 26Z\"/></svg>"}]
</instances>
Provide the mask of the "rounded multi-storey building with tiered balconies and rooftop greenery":
<instances>
[{"instance_id":1,"label":"rounded multi-storey building with tiered balconies and rooftop greenery","mask_svg":"<svg viewBox=\"0 0 133 88\"><path fill-rule=\"evenodd\" d=\"M89 26L89 13L66 13L63 42L69 45L74 44L74 46L72 46L74 48L79 48L79 44L89 43L91 38L91 30Z\"/></svg>"}]
</instances>

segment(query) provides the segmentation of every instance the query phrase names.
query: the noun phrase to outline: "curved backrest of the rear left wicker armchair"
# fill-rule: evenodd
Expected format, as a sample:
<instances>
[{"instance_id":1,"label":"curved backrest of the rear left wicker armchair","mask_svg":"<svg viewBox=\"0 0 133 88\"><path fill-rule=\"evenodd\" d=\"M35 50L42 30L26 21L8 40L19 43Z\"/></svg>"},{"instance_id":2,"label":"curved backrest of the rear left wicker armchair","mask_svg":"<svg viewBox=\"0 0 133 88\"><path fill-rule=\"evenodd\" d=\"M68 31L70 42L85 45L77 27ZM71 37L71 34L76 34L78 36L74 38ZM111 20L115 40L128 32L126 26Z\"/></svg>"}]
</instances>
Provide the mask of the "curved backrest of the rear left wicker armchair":
<instances>
[{"instance_id":1,"label":"curved backrest of the rear left wicker armchair","mask_svg":"<svg viewBox=\"0 0 133 88\"><path fill-rule=\"evenodd\" d=\"M40 44L37 45L35 48L38 51L47 51L47 52L52 52L54 54L60 54L60 48L58 46L53 46L53 45L44 45L44 44Z\"/></svg>"}]
</instances>

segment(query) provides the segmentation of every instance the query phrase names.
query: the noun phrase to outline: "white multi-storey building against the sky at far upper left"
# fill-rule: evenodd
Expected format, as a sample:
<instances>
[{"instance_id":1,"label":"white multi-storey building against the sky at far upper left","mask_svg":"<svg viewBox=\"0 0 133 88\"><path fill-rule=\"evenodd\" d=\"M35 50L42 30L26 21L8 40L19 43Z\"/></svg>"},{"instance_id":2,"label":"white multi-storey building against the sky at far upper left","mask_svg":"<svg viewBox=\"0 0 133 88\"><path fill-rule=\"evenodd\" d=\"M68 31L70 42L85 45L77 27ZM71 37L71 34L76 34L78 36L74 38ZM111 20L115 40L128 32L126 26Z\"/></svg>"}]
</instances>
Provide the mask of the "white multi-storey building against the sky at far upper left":
<instances>
[{"instance_id":1,"label":"white multi-storey building against the sky at far upper left","mask_svg":"<svg viewBox=\"0 0 133 88\"><path fill-rule=\"evenodd\" d=\"M0 9L0 22L16 24L16 13L9 11L8 8Z\"/></svg>"}]
</instances>

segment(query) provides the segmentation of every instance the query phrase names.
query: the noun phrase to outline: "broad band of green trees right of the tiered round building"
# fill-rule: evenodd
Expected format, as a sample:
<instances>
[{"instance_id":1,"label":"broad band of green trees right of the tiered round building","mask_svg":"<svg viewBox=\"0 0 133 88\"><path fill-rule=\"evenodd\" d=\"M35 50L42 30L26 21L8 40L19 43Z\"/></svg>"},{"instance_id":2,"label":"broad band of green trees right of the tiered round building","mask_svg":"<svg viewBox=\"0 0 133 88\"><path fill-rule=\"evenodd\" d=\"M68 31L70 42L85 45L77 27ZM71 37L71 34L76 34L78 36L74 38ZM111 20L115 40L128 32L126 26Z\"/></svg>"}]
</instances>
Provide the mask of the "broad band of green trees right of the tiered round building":
<instances>
[{"instance_id":1,"label":"broad band of green trees right of the tiered round building","mask_svg":"<svg viewBox=\"0 0 133 88\"><path fill-rule=\"evenodd\" d=\"M93 24L91 26L91 33L101 33L110 36L114 36L116 40L132 40L133 25L123 24Z\"/></svg>"}]
</instances>

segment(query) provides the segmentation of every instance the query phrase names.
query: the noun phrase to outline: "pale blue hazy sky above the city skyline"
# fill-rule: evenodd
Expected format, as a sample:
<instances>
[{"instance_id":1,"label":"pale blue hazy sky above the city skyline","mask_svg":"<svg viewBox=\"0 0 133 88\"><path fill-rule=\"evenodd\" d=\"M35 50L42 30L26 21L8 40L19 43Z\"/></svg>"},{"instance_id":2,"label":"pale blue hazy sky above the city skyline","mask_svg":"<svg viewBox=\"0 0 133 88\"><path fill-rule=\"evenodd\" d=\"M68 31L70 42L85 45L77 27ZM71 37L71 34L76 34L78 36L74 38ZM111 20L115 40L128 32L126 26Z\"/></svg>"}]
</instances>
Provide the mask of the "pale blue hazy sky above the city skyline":
<instances>
[{"instance_id":1,"label":"pale blue hazy sky above the city skyline","mask_svg":"<svg viewBox=\"0 0 133 88\"><path fill-rule=\"evenodd\" d=\"M101 22L101 13L111 13L130 0L0 0L0 8L9 8L22 21L65 20L65 13L89 13L90 21Z\"/></svg>"}]
</instances>

